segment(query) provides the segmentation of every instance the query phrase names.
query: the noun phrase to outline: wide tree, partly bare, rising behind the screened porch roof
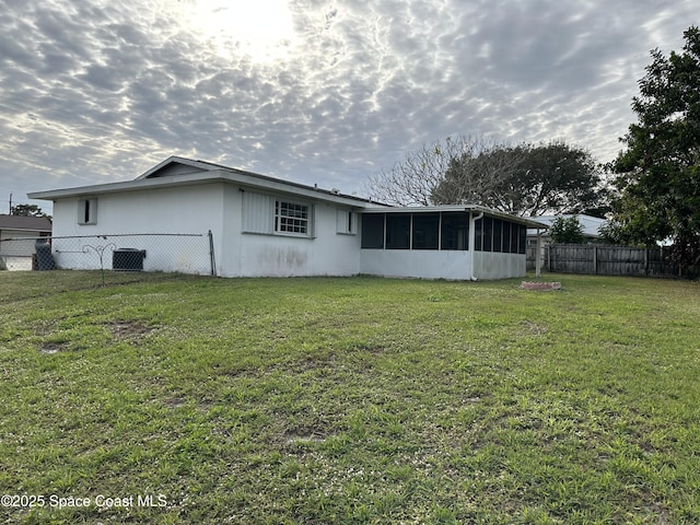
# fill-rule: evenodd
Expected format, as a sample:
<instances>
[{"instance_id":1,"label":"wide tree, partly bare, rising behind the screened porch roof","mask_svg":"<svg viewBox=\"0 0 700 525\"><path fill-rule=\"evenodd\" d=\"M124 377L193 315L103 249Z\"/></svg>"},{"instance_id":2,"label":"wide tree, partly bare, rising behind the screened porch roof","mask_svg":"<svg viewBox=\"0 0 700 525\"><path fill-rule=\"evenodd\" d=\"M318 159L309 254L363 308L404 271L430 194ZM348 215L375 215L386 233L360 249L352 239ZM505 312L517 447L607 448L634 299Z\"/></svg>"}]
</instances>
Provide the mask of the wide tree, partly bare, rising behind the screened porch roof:
<instances>
[{"instance_id":1,"label":"wide tree, partly bare, rising behind the screened porch roof","mask_svg":"<svg viewBox=\"0 0 700 525\"><path fill-rule=\"evenodd\" d=\"M596 163L578 147L464 136L408 153L390 171L371 177L366 190L393 205L470 203L518 215L590 213L604 195Z\"/></svg>"}]
</instances>

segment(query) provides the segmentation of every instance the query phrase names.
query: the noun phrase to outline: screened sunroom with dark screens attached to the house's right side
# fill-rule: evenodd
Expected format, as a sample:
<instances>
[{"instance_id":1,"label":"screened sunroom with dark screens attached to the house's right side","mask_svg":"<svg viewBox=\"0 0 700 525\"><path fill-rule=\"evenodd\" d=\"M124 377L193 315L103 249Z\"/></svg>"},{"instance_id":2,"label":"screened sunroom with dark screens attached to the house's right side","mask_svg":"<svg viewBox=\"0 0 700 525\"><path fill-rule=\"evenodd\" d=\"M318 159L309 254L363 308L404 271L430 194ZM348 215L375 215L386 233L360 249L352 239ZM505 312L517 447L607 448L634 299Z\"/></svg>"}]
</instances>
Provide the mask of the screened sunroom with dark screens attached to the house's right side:
<instances>
[{"instance_id":1,"label":"screened sunroom with dark screens attached to the house's right side","mask_svg":"<svg viewBox=\"0 0 700 525\"><path fill-rule=\"evenodd\" d=\"M361 272L456 280L523 277L528 228L545 226L478 206L365 208Z\"/></svg>"}]
</instances>

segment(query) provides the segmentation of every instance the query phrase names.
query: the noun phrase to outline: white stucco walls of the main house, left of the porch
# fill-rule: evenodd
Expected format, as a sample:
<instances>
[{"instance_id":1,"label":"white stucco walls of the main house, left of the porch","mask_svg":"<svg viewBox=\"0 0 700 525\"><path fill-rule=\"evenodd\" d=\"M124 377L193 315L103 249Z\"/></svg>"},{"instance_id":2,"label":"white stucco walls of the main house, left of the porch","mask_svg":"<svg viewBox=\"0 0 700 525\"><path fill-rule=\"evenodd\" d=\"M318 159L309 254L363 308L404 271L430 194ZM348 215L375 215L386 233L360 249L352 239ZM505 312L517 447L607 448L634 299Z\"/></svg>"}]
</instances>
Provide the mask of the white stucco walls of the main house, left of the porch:
<instances>
[{"instance_id":1,"label":"white stucco walls of the main house, left of the porch","mask_svg":"<svg viewBox=\"0 0 700 525\"><path fill-rule=\"evenodd\" d=\"M221 277L359 273L359 233L337 233L337 213L338 209L343 209L342 207L270 194L272 199L280 198L312 206L314 236L305 238L283 234L243 233L243 195L244 191L236 185L222 183L102 194L96 197L96 224L78 223L79 198L60 199L54 205L54 235L61 237L139 233L206 234L211 230L217 275ZM161 236L109 237L106 241L56 238L56 262L62 268L98 269L100 260L93 252L85 256L75 252L83 245L104 245L109 242L115 242L117 248L145 249L145 271L208 272L208 267L203 271L199 269L202 259L208 260L207 237L197 240L196 243L183 241L182 237ZM196 244L195 248L192 244ZM200 246L206 249L205 254ZM191 253L192 249L197 249L198 253ZM61 250L72 253L61 254ZM106 253L105 268L110 268L110 252Z\"/></svg>"}]
</instances>

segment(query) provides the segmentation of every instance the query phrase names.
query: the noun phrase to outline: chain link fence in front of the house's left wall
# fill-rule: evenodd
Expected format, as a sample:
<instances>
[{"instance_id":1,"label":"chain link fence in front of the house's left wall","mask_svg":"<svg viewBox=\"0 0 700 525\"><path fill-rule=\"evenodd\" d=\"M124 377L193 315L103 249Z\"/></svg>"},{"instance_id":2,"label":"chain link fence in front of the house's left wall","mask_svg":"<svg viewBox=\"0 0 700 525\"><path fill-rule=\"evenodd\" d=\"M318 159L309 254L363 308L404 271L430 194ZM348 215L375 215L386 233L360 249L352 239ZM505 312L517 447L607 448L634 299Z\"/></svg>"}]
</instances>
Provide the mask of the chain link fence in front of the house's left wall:
<instances>
[{"instance_id":1,"label":"chain link fence in front of the house's left wall","mask_svg":"<svg viewBox=\"0 0 700 525\"><path fill-rule=\"evenodd\" d=\"M3 238L0 269L217 275L211 232Z\"/></svg>"}]
</instances>

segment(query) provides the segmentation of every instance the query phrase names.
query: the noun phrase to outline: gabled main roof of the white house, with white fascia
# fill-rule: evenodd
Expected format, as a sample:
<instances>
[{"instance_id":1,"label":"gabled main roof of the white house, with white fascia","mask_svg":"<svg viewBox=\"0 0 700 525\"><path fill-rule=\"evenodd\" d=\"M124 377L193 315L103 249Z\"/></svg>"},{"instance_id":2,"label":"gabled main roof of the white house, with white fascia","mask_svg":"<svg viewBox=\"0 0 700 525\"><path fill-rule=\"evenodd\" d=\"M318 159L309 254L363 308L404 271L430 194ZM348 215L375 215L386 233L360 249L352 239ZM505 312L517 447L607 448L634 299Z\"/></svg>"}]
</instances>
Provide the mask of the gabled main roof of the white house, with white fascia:
<instances>
[{"instance_id":1,"label":"gabled main roof of the white house, with white fascia","mask_svg":"<svg viewBox=\"0 0 700 525\"><path fill-rule=\"evenodd\" d=\"M70 197L86 197L100 194L140 191L150 188L191 186L221 182L294 194L306 198L323 199L350 206L382 206L380 202L362 199L353 195L343 195L335 189L322 189L316 186L306 186L281 178L213 164L211 162L192 161L191 159L182 156L171 156L166 159L135 180L35 191L27 194L27 196L31 199L57 200Z\"/></svg>"}]
</instances>

